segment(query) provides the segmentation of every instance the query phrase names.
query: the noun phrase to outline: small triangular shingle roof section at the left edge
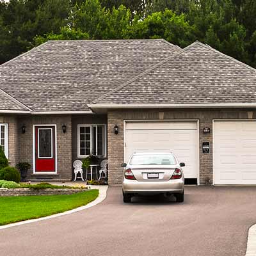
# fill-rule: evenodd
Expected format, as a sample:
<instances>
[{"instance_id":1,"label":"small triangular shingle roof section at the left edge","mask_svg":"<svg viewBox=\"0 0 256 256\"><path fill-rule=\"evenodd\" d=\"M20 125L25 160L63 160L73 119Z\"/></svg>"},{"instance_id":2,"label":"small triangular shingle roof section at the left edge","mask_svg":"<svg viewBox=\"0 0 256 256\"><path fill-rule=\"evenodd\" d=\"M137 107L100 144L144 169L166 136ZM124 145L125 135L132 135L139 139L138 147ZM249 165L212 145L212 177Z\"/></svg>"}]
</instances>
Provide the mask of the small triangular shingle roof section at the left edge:
<instances>
[{"instance_id":1,"label":"small triangular shingle roof section at the left edge","mask_svg":"<svg viewBox=\"0 0 256 256\"><path fill-rule=\"evenodd\" d=\"M5 93L3 90L0 90L0 111L1 110L29 111L29 109L26 106L24 106L18 100L15 100L13 97Z\"/></svg>"}]
</instances>

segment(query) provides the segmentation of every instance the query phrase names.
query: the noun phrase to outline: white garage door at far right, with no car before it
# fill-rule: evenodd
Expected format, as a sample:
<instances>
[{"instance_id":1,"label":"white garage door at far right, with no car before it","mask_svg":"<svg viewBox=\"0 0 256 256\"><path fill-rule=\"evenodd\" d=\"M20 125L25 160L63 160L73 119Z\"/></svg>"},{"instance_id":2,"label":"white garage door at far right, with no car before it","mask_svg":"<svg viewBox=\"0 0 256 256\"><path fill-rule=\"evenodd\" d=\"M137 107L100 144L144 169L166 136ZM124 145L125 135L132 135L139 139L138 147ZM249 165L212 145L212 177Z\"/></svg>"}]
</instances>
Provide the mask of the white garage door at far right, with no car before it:
<instances>
[{"instance_id":1,"label":"white garage door at far right, with no car before it","mask_svg":"<svg viewBox=\"0 0 256 256\"><path fill-rule=\"evenodd\" d=\"M256 184L256 122L214 122L214 184Z\"/></svg>"}]
</instances>

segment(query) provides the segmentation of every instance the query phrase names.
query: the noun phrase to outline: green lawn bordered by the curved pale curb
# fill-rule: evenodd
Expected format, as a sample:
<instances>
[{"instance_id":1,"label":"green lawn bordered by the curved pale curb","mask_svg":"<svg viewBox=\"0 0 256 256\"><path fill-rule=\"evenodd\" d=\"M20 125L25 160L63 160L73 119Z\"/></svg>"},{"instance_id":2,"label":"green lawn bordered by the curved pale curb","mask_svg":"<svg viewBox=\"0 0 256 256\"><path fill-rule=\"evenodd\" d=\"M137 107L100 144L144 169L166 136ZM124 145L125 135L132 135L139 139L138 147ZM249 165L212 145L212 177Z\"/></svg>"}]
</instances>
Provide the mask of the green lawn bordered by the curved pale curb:
<instances>
[{"instance_id":1,"label":"green lawn bordered by the curved pale curb","mask_svg":"<svg viewBox=\"0 0 256 256\"><path fill-rule=\"evenodd\" d=\"M30 220L86 205L99 195L92 189L73 195L0 196L0 225Z\"/></svg>"}]
</instances>

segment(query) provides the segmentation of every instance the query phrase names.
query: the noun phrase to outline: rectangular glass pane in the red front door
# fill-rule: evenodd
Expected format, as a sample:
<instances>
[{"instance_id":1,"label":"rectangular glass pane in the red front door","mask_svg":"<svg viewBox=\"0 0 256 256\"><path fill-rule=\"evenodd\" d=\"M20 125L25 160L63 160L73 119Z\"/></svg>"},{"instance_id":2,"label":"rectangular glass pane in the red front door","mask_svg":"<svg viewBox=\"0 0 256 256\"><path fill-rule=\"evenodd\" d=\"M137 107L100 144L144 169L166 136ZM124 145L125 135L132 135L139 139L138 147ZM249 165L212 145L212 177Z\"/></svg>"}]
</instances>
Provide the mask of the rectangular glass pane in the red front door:
<instances>
[{"instance_id":1,"label":"rectangular glass pane in the red front door","mask_svg":"<svg viewBox=\"0 0 256 256\"><path fill-rule=\"evenodd\" d=\"M38 129L39 157L52 157L52 130Z\"/></svg>"}]
</instances>

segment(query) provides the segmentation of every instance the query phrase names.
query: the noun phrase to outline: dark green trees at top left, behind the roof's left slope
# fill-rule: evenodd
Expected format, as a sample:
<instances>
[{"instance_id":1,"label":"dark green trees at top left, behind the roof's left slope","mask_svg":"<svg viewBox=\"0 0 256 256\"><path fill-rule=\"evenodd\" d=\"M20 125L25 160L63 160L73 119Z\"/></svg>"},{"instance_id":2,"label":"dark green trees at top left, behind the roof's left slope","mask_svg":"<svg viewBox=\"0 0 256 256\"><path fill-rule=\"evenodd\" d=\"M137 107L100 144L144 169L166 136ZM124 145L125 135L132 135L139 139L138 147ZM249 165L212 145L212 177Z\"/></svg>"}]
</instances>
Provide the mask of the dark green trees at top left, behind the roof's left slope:
<instances>
[{"instance_id":1,"label":"dark green trees at top left, behind the roof's left slope","mask_svg":"<svg viewBox=\"0 0 256 256\"><path fill-rule=\"evenodd\" d=\"M67 25L69 0L10 0L0 4L0 64L27 51L36 35Z\"/></svg>"}]
</instances>

